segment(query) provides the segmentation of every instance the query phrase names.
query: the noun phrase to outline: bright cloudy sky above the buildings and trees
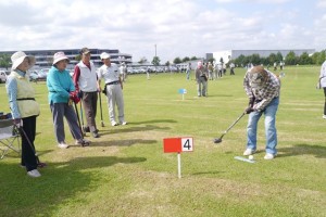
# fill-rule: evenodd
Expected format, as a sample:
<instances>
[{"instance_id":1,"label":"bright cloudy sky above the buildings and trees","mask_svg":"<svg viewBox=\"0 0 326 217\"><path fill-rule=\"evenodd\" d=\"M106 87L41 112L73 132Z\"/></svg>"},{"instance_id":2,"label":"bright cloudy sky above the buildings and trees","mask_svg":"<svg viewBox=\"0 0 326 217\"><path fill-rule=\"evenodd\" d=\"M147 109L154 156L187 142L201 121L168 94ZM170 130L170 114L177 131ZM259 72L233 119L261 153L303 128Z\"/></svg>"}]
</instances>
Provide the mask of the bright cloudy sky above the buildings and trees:
<instances>
[{"instance_id":1,"label":"bright cloudy sky above the buildings and trees","mask_svg":"<svg viewBox=\"0 0 326 217\"><path fill-rule=\"evenodd\" d=\"M326 0L0 0L0 50L120 49L138 62L326 49Z\"/></svg>"}]
</instances>

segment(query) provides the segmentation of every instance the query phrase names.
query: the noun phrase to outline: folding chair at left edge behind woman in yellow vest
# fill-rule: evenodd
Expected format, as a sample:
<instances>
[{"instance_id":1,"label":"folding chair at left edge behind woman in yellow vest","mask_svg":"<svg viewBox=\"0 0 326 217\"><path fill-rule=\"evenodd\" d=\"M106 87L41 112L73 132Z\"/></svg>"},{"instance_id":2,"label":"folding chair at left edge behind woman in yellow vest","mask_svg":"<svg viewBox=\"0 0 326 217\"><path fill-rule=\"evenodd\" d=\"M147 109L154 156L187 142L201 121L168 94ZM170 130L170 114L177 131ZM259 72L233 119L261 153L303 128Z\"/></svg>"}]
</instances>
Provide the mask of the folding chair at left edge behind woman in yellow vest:
<instances>
[{"instance_id":1,"label":"folding chair at left edge behind woman in yellow vest","mask_svg":"<svg viewBox=\"0 0 326 217\"><path fill-rule=\"evenodd\" d=\"M21 154L20 132L11 118L0 119L0 158L2 159L10 150Z\"/></svg>"}]
</instances>

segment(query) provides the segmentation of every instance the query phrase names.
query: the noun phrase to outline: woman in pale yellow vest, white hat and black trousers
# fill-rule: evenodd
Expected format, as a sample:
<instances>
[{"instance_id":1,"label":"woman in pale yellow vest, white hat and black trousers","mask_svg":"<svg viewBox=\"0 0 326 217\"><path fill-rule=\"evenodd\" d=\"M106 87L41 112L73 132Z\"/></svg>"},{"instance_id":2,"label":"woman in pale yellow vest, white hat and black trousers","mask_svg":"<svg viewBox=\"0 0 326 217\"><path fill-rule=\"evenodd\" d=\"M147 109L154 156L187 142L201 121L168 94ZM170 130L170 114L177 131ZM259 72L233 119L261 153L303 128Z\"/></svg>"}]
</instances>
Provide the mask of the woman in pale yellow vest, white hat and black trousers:
<instances>
[{"instance_id":1,"label":"woman in pale yellow vest, white hat and black trousers","mask_svg":"<svg viewBox=\"0 0 326 217\"><path fill-rule=\"evenodd\" d=\"M5 88L14 124L21 129L21 165L26 168L28 176L40 177L37 167L45 166L45 164L39 164L34 146L39 104L35 101L35 92L27 76L27 71L35 64L35 58L17 51L11 56L11 61L12 72L8 77Z\"/></svg>"}]
</instances>

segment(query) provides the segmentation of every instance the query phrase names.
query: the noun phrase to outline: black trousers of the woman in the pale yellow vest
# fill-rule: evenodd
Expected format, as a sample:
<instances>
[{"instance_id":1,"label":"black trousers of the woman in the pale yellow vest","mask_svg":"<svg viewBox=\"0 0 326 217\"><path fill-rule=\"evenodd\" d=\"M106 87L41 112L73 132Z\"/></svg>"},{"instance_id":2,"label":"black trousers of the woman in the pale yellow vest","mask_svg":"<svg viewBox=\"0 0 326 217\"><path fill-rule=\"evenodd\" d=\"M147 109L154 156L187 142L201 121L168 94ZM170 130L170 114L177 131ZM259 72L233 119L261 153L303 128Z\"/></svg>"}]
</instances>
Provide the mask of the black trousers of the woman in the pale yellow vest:
<instances>
[{"instance_id":1,"label":"black trousers of the woman in the pale yellow vest","mask_svg":"<svg viewBox=\"0 0 326 217\"><path fill-rule=\"evenodd\" d=\"M35 133L36 133L36 116L25 117L22 119L23 119L23 130L26 132L26 136L21 131L21 138L22 138L21 164L23 166L26 166L27 171L30 171L37 168L37 161L35 156L35 146L34 146Z\"/></svg>"}]
</instances>

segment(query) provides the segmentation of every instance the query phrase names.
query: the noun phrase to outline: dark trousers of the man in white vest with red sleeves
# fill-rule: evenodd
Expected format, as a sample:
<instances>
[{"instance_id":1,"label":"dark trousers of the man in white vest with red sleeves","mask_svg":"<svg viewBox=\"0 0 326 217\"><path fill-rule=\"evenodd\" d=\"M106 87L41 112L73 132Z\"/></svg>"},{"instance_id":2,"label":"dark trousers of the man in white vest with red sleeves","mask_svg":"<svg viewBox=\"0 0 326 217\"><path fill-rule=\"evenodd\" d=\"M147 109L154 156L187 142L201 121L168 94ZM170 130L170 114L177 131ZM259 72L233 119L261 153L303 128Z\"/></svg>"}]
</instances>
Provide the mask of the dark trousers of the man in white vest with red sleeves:
<instances>
[{"instance_id":1,"label":"dark trousers of the man in white vest with red sleeves","mask_svg":"<svg viewBox=\"0 0 326 217\"><path fill-rule=\"evenodd\" d=\"M98 92L83 92L83 106L87 126L91 132L97 130L96 116L98 105Z\"/></svg>"}]
</instances>

